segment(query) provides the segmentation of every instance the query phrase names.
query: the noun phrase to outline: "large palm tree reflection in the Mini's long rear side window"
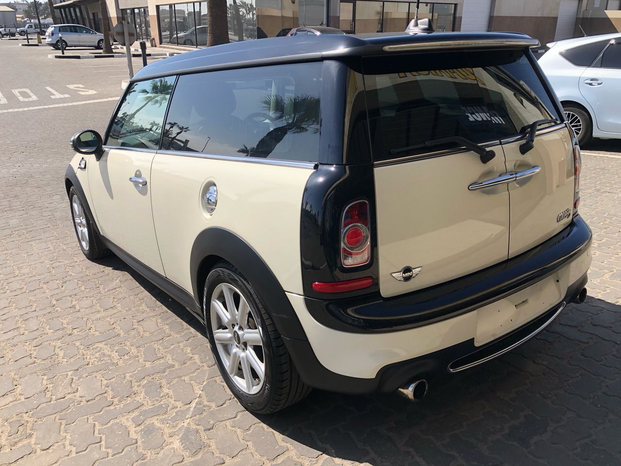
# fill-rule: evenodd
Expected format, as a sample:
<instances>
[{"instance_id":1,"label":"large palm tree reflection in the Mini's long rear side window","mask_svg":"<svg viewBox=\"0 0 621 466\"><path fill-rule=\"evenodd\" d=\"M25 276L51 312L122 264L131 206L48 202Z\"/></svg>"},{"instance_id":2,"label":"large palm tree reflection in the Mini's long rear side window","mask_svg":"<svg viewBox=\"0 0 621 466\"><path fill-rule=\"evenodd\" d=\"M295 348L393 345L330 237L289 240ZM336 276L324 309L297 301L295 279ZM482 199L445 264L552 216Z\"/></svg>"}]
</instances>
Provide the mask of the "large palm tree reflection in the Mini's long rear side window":
<instances>
[{"instance_id":1,"label":"large palm tree reflection in the Mini's long rear side window","mask_svg":"<svg viewBox=\"0 0 621 466\"><path fill-rule=\"evenodd\" d=\"M261 106L273 119L283 121L284 125L268 131L255 147L243 145L237 152L247 157L266 158L289 133L299 134L311 131L317 134L319 132L319 104L319 97L307 94L286 99L280 95L265 96L261 99Z\"/></svg>"}]
</instances>

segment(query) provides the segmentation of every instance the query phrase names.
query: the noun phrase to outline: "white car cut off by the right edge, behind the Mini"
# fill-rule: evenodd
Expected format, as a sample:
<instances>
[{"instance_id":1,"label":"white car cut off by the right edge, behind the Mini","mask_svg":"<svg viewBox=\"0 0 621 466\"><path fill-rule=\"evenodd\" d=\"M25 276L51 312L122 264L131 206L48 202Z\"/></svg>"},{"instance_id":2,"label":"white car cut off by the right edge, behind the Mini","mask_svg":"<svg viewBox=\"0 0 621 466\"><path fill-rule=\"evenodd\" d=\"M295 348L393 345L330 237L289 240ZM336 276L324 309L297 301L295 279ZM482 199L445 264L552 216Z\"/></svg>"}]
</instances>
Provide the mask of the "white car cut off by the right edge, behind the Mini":
<instances>
[{"instance_id":1,"label":"white car cut off by the right edge, behind the Mini","mask_svg":"<svg viewBox=\"0 0 621 466\"><path fill-rule=\"evenodd\" d=\"M591 137L621 138L621 34L547 44L539 65L583 145Z\"/></svg>"}]
</instances>

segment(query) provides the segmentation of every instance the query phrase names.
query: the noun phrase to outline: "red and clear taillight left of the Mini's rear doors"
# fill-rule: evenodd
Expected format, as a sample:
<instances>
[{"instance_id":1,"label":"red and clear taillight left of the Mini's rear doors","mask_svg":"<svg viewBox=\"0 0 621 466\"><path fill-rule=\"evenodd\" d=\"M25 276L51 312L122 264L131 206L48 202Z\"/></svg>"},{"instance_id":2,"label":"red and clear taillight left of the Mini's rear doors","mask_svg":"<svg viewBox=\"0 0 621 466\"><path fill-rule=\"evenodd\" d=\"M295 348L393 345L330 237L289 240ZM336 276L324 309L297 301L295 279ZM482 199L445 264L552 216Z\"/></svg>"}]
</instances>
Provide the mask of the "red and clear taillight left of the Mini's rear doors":
<instances>
[{"instance_id":1,"label":"red and clear taillight left of the Mini's rear doors","mask_svg":"<svg viewBox=\"0 0 621 466\"><path fill-rule=\"evenodd\" d=\"M365 265L371 259L370 250L369 203L367 201L355 201L343 211L341 222L341 261L343 267Z\"/></svg>"}]
</instances>

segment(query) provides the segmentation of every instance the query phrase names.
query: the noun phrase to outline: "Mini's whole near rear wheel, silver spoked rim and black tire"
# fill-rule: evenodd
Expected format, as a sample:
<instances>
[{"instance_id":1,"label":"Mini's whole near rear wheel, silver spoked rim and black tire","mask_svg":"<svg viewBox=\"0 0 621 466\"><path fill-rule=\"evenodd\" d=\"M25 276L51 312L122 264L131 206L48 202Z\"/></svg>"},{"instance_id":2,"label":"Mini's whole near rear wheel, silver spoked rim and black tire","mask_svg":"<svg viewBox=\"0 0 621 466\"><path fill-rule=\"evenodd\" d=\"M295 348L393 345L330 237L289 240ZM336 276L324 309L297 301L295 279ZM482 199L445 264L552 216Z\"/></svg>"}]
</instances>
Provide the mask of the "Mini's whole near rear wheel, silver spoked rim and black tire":
<instances>
[{"instance_id":1,"label":"Mini's whole near rear wheel, silver spoked rim and black tire","mask_svg":"<svg viewBox=\"0 0 621 466\"><path fill-rule=\"evenodd\" d=\"M244 408L275 413L311 392L254 288L230 263L207 276L203 309L215 362Z\"/></svg>"}]
</instances>

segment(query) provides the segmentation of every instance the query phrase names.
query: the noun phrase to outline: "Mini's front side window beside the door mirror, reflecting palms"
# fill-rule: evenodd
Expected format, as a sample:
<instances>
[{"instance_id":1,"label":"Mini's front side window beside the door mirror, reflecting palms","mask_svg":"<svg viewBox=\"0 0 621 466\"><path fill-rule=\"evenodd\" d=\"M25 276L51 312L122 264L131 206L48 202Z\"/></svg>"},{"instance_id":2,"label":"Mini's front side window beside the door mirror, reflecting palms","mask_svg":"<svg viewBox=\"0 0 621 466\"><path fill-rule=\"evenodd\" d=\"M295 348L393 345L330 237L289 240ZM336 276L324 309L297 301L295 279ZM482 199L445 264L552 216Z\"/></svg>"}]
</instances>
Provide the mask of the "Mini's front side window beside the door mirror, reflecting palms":
<instances>
[{"instance_id":1,"label":"Mini's front side window beside the door mirror, reflecting palms","mask_svg":"<svg viewBox=\"0 0 621 466\"><path fill-rule=\"evenodd\" d=\"M174 84L173 76L133 83L114 116L106 144L157 149Z\"/></svg>"}]
</instances>

